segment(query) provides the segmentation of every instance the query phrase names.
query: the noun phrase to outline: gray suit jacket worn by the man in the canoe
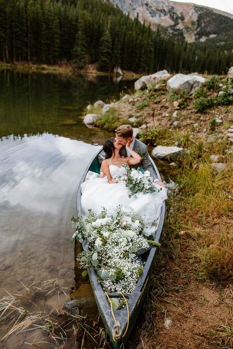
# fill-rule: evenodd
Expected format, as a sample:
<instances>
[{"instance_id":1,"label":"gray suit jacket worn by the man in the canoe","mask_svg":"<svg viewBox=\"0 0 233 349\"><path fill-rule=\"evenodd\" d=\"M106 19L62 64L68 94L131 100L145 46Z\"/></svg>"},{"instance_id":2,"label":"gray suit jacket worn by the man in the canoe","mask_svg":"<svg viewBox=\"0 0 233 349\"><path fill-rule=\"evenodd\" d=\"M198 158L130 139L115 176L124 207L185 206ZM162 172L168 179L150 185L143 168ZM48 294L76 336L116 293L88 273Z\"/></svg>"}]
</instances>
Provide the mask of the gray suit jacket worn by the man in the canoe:
<instances>
[{"instance_id":1,"label":"gray suit jacket worn by the man in the canoe","mask_svg":"<svg viewBox=\"0 0 233 349\"><path fill-rule=\"evenodd\" d=\"M154 180L158 179L153 167L151 166L146 144L141 142L141 140L135 138L133 150L142 157L142 161L140 163L137 163L136 165L132 165L130 167L138 168L138 167L142 166L144 171L146 171L146 170L149 171L150 176L153 177ZM120 155L127 157L127 152L126 152L125 146L123 146L120 149Z\"/></svg>"}]
</instances>

